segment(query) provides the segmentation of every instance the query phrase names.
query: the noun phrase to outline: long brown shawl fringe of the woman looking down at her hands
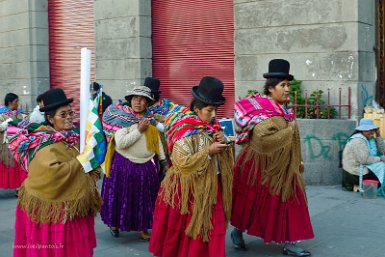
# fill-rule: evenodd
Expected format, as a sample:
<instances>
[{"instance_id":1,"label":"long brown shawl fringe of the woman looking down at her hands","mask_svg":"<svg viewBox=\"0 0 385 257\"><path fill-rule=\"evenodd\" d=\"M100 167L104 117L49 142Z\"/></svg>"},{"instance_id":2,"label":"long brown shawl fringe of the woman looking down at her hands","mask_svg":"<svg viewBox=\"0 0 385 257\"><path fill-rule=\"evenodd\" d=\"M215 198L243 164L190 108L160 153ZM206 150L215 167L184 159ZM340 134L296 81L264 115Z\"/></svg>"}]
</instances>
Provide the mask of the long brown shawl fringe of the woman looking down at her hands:
<instances>
[{"instance_id":1,"label":"long brown shawl fringe of the woman looking down at her hands","mask_svg":"<svg viewBox=\"0 0 385 257\"><path fill-rule=\"evenodd\" d=\"M218 190L217 158L221 171L223 206L227 224L230 220L232 204L233 152L231 147L228 151L212 158L207 169L200 174L194 171L190 174L182 174L172 166L172 171L170 169L167 172L162 183L163 191L160 195L172 208L179 208L181 215L188 214L191 207L191 220L185 233L193 239L201 236L203 242L210 240L210 230L213 229L212 209L217 201Z\"/></svg>"}]
</instances>

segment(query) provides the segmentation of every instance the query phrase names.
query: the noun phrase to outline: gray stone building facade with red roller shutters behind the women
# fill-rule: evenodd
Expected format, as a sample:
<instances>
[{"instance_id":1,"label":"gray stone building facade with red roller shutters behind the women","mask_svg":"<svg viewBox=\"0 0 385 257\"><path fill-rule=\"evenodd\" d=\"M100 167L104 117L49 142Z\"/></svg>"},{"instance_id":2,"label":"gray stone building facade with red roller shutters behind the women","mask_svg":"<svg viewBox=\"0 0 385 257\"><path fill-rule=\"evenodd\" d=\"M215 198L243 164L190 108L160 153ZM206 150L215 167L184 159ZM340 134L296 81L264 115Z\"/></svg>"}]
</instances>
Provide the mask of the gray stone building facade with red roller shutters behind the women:
<instances>
[{"instance_id":1,"label":"gray stone building facade with red roller shutters behind the women","mask_svg":"<svg viewBox=\"0 0 385 257\"><path fill-rule=\"evenodd\" d=\"M76 71L68 74L65 65L54 62L63 57L63 62L76 67L74 58L80 57L80 48L89 47L95 53L93 76L113 99L122 98L133 85L154 75L163 81L163 96L177 92L175 97L184 101L201 76L215 75L228 87L229 104L223 115L230 116L235 99L250 89L262 89L268 61L284 58L309 94L329 89L331 102L337 103L339 88L343 101L351 89L351 119L343 109L343 120L299 121L307 181L336 183L338 151L362 116L363 107L381 91L377 83L378 56L383 52L377 42L381 39L379 3L382 1L0 0L0 96L14 92L31 106L39 93L58 86L73 90L71 96L76 97ZM63 32L69 22L72 27ZM59 39L53 38L55 31ZM58 44L64 42L60 33L68 33L73 44L71 49L57 50L55 57L53 49L60 49ZM80 61L78 67L80 70ZM59 82L58 74L64 74Z\"/></svg>"}]
</instances>

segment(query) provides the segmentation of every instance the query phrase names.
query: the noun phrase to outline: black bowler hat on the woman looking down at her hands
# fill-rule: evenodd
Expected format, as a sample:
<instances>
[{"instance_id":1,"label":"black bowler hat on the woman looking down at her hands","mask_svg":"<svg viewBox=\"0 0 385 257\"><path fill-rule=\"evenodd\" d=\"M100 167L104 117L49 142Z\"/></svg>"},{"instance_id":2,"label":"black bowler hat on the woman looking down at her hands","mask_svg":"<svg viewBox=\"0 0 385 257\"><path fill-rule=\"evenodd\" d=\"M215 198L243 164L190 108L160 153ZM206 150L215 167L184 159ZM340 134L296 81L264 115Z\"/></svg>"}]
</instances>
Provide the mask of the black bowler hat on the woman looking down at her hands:
<instances>
[{"instance_id":1,"label":"black bowler hat on the woman looking down at her hands","mask_svg":"<svg viewBox=\"0 0 385 257\"><path fill-rule=\"evenodd\" d=\"M222 105L226 98L222 96L223 83L214 77L203 77L198 86L192 88L192 93L198 100L209 105Z\"/></svg>"}]
</instances>

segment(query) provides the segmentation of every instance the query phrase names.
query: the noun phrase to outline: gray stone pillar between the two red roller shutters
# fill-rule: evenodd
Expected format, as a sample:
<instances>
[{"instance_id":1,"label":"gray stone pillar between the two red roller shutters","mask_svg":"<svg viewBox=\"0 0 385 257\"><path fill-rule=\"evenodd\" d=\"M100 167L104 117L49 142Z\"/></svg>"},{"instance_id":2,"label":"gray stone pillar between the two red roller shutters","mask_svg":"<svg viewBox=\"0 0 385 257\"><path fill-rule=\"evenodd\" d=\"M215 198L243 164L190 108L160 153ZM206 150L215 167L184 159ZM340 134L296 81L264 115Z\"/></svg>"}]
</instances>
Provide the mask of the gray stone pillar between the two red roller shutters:
<instances>
[{"instance_id":1,"label":"gray stone pillar between the two red roller shutters","mask_svg":"<svg viewBox=\"0 0 385 257\"><path fill-rule=\"evenodd\" d=\"M114 100L151 75L151 0L95 0L96 81Z\"/></svg>"}]
</instances>

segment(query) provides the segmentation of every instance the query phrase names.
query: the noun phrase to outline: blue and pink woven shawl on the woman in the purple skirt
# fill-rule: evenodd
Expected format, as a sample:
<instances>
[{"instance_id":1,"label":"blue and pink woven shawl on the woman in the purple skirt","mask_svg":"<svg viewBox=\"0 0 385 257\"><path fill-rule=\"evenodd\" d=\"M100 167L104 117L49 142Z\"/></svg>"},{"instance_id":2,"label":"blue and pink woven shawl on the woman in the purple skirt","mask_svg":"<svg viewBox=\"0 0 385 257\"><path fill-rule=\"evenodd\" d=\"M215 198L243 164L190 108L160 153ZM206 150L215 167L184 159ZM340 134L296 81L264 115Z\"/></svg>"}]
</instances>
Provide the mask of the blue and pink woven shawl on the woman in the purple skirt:
<instances>
[{"instance_id":1,"label":"blue and pink woven shawl on the woman in the purple skirt","mask_svg":"<svg viewBox=\"0 0 385 257\"><path fill-rule=\"evenodd\" d=\"M143 116L134 112L128 105L123 105L121 100L111 104L103 114L103 129L110 142L112 135L119 129L130 127L138 123L141 118L148 118L152 125L156 126L156 121L152 113L147 109Z\"/></svg>"}]
</instances>

